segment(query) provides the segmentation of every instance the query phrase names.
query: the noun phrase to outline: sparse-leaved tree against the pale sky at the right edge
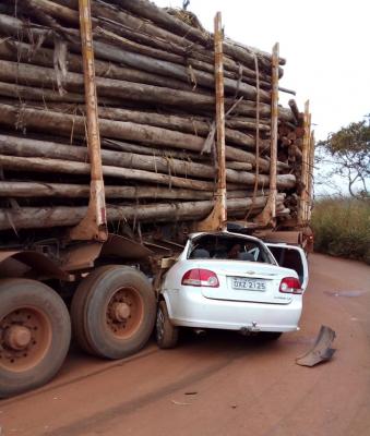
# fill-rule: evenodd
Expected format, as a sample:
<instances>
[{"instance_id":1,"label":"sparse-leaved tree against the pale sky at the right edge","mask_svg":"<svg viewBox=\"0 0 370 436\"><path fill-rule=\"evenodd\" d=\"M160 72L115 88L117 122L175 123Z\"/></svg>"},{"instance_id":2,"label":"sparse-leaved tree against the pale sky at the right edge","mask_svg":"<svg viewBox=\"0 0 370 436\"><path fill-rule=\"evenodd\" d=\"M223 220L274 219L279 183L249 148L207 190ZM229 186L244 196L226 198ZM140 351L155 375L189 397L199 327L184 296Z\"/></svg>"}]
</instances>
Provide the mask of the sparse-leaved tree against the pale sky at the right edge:
<instances>
[{"instance_id":1,"label":"sparse-leaved tree against the pale sky at the right edge","mask_svg":"<svg viewBox=\"0 0 370 436\"><path fill-rule=\"evenodd\" d=\"M353 197L370 197L370 125L365 121L350 123L318 146L324 155L331 156L331 174L338 174L348 181L348 191ZM321 158L325 162L325 157ZM327 161L327 159L326 159ZM359 186L359 187L358 187Z\"/></svg>"}]
</instances>

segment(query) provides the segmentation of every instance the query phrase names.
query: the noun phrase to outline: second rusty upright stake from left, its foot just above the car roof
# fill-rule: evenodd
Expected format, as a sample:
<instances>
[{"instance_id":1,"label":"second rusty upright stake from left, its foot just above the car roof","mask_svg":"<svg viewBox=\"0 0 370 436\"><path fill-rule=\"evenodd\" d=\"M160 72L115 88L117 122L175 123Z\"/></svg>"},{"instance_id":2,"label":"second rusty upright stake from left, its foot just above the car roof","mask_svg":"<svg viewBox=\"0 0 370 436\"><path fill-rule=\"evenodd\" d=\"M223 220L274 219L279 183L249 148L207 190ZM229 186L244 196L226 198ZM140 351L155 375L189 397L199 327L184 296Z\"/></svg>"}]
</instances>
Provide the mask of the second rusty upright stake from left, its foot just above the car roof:
<instances>
[{"instance_id":1,"label":"second rusty upright stake from left, its foot just above the car roof","mask_svg":"<svg viewBox=\"0 0 370 436\"><path fill-rule=\"evenodd\" d=\"M217 12L215 16L215 94L216 94L216 134L217 134L217 192L215 205L211 215L196 225L200 231L226 230L226 145L225 145L225 97L224 97L224 55L223 55L223 26L222 15Z\"/></svg>"}]
</instances>

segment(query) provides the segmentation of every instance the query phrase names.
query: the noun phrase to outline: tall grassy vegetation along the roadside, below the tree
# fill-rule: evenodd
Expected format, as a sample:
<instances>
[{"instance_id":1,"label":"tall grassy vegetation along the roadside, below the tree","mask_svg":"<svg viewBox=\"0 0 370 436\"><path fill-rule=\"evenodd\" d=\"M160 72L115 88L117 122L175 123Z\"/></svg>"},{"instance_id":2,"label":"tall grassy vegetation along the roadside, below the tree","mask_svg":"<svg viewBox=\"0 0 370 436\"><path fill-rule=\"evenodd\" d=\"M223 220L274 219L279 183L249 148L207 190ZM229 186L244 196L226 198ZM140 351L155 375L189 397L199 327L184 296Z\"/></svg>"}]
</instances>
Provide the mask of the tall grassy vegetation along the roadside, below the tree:
<instances>
[{"instance_id":1,"label":"tall grassy vegetation along the roadside, below the tree","mask_svg":"<svg viewBox=\"0 0 370 436\"><path fill-rule=\"evenodd\" d=\"M370 265L370 201L323 198L312 214L319 253L363 261Z\"/></svg>"}]
</instances>

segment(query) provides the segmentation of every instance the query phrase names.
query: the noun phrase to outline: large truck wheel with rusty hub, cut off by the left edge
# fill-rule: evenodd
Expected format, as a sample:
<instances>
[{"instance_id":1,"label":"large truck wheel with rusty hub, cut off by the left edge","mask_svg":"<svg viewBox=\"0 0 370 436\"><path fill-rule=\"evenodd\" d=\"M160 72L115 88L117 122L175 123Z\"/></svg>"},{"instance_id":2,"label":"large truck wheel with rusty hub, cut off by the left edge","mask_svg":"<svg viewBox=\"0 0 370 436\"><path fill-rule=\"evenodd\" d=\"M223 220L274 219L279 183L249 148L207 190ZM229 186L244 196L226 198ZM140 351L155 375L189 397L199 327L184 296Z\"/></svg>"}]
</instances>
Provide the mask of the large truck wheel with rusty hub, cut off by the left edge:
<instances>
[{"instance_id":1,"label":"large truck wheel with rusty hub, cut off by the left edge","mask_svg":"<svg viewBox=\"0 0 370 436\"><path fill-rule=\"evenodd\" d=\"M48 286L0 280L0 398L49 382L62 365L71 323L62 299Z\"/></svg>"}]
</instances>

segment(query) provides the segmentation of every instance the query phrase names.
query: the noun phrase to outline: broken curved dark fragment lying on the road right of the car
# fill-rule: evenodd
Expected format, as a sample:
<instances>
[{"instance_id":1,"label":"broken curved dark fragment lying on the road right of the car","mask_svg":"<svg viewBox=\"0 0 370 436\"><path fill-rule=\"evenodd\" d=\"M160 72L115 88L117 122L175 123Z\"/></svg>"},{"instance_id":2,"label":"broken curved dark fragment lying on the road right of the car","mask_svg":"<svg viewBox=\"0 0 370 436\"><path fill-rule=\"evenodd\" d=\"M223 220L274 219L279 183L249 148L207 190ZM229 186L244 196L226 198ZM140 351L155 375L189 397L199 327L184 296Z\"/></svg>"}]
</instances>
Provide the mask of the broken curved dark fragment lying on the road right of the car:
<instances>
[{"instance_id":1,"label":"broken curved dark fragment lying on the road right of the car","mask_svg":"<svg viewBox=\"0 0 370 436\"><path fill-rule=\"evenodd\" d=\"M306 354L296 359L296 363L302 366L314 366L320 362L329 361L333 358L335 349L331 348L335 339L335 331L327 326L321 326L314 346Z\"/></svg>"}]
</instances>

